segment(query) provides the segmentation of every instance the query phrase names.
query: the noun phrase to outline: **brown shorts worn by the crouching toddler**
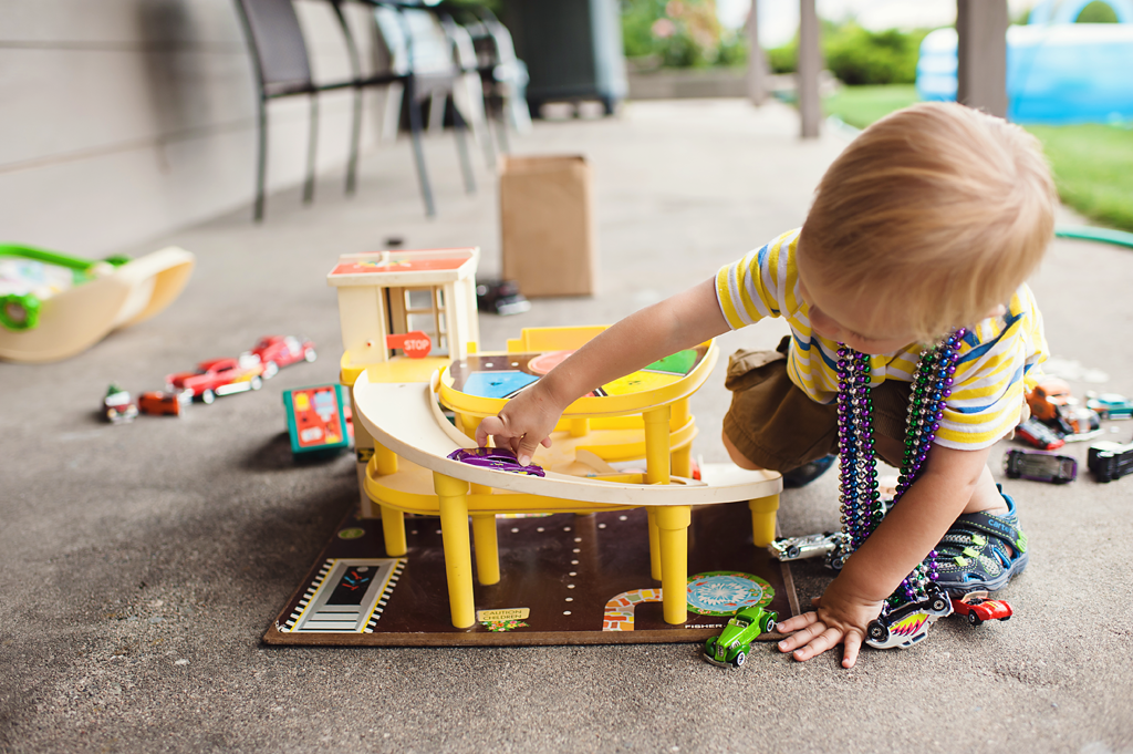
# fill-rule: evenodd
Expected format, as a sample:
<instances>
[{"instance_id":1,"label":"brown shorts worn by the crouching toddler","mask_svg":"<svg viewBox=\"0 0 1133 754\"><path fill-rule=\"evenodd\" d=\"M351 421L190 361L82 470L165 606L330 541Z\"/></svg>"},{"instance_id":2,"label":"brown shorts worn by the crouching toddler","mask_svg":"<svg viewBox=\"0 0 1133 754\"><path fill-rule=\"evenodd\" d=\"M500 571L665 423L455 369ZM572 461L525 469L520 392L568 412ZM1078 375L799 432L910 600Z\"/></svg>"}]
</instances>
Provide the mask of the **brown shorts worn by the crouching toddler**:
<instances>
[{"instance_id":1,"label":"brown shorts worn by the crouching toddler","mask_svg":"<svg viewBox=\"0 0 1133 754\"><path fill-rule=\"evenodd\" d=\"M724 433L760 468L787 472L838 451L838 413L815 403L786 374L791 338L777 350L738 350L729 358L724 387L732 406ZM874 388L874 432L903 441L910 384L886 380ZM891 464L900 458L887 459Z\"/></svg>"}]
</instances>

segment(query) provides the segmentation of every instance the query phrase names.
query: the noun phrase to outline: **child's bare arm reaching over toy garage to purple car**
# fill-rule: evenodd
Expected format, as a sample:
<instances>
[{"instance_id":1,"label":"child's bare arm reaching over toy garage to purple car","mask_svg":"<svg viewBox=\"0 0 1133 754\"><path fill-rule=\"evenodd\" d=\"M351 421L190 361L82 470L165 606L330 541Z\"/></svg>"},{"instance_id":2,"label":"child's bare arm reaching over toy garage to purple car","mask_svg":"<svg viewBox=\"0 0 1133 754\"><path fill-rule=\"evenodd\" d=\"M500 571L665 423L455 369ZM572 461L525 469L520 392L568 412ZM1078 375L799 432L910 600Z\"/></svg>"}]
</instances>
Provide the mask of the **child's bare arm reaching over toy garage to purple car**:
<instances>
[{"instance_id":1,"label":"child's bare arm reaching over toy garage to purple car","mask_svg":"<svg viewBox=\"0 0 1133 754\"><path fill-rule=\"evenodd\" d=\"M634 312L586 344L476 430L476 442L511 448L527 465L562 413L586 393L684 348L729 331L714 278Z\"/></svg>"}]
</instances>

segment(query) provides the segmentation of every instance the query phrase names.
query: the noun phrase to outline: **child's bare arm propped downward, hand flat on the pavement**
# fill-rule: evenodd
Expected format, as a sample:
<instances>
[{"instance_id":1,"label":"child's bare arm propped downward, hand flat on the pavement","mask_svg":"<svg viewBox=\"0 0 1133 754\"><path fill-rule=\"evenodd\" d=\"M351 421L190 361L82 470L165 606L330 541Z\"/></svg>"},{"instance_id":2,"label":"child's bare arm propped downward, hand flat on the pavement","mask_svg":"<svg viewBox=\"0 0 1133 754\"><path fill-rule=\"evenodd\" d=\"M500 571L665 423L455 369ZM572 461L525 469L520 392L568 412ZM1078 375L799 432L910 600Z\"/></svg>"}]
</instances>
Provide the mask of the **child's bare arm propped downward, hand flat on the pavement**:
<instances>
[{"instance_id":1,"label":"child's bare arm propped downward, hand flat on the pavement","mask_svg":"<svg viewBox=\"0 0 1133 754\"><path fill-rule=\"evenodd\" d=\"M881 602L964 512L981 477L990 477L989 451L934 446L921 477L815 600L815 610L780 624L783 633L798 632L780 642L780 650L809 660L845 644L842 667L852 668Z\"/></svg>"}]
</instances>

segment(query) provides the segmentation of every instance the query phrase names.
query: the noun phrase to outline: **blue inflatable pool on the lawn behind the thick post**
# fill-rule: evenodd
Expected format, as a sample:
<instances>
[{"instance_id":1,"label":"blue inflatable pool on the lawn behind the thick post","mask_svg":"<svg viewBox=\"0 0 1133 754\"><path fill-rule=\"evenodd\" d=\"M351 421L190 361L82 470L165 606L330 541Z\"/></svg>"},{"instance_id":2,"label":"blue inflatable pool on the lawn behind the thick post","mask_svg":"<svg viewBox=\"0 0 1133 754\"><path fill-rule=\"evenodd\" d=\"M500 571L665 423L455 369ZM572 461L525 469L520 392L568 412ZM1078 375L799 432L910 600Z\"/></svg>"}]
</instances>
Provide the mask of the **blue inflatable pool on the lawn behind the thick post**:
<instances>
[{"instance_id":1,"label":"blue inflatable pool on the lawn behind the thick post","mask_svg":"<svg viewBox=\"0 0 1133 754\"><path fill-rule=\"evenodd\" d=\"M1047 1L1007 29L1007 117L1015 122L1133 120L1133 0L1109 0L1122 23L1074 24L1088 0ZM917 92L956 99L956 29L921 43Z\"/></svg>"}]
</instances>

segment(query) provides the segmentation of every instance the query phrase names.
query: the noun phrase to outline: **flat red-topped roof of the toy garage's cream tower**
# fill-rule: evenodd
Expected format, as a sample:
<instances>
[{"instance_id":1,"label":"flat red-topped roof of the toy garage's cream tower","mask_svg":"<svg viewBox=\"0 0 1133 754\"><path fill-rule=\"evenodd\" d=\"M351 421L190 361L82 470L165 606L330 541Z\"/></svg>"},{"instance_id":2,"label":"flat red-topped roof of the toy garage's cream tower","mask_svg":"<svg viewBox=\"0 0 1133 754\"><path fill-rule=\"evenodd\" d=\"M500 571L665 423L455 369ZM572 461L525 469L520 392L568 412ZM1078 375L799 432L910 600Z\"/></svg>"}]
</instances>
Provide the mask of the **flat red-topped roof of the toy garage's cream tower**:
<instances>
[{"instance_id":1,"label":"flat red-topped roof of the toy garage's cream tower","mask_svg":"<svg viewBox=\"0 0 1133 754\"><path fill-rule=\"evenodd\" d=\"M432 286L476 273L480 249L434 248L343 254L326 276L331 286Z\"/></svg>"}]
</instances>

